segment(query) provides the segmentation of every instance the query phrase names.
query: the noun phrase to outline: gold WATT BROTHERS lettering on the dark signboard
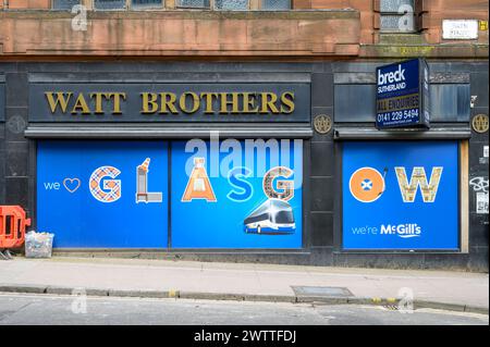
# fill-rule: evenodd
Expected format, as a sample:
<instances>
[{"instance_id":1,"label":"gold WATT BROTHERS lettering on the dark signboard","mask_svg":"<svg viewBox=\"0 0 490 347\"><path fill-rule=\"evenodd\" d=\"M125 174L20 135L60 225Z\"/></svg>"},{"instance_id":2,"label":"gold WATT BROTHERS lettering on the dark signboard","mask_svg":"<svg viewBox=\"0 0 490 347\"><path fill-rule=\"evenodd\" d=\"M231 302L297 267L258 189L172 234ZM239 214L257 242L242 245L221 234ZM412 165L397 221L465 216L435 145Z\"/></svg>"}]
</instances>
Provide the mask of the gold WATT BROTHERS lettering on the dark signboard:
<instances>
[{"instance_id":1,"label":"gold WATT BROTHERS lettering on the dark signboard","mask_svg":"<svg viewBox=\"0 0 490 347\"><path fill-rule=\"evenodd\" d=\"M144 91L138 92L139 113L157 114L290 114L295 110L293 91ZM52 114L118 115L136 98L122 91L45 91ZM134 99L131 99L131 98Z\"/></svg>"}]
</instances>

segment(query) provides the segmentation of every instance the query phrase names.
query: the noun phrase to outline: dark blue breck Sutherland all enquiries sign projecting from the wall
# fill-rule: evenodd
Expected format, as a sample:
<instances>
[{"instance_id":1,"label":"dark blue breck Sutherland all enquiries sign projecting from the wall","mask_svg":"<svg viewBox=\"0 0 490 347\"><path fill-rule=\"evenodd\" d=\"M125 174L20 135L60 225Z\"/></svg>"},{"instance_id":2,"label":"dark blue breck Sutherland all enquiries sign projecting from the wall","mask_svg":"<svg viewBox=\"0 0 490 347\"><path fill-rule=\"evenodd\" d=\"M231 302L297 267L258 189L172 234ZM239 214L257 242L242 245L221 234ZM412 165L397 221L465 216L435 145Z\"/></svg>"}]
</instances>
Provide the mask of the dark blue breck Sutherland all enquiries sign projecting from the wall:
<instances>
[{"instance_id":1,"label":"dark blue breck Sutherland all enquiries sign projecting from the wall","mask_svg":"<svg viewBox=\"0 0 490 347\"><path fill-rule=\"evenodd\" d=\"M376 127L429 127L429 66L414 59L377 69Z\"/></svg>"}]
</instances>

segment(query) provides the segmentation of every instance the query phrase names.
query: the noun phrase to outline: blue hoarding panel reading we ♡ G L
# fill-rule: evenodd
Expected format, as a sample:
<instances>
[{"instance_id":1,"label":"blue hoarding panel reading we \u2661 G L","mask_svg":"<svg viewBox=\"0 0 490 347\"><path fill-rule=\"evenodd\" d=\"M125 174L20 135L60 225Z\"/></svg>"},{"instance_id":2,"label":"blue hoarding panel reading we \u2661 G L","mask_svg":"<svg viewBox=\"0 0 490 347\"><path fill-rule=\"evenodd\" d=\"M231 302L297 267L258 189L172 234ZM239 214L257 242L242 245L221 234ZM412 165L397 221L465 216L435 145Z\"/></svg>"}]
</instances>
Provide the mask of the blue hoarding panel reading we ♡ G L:
<instances>
[{"instance_id":1,"label":"blue hoarding panel reading we \u2661 G L","mask_svg":"<svg viewBox=\"0 0 490 347\"><path fill-rule=\"evenodd\" d=\"M37 230L59 248L166 248L168 144L39 141Z\"/></svg>"}]
</instances>

